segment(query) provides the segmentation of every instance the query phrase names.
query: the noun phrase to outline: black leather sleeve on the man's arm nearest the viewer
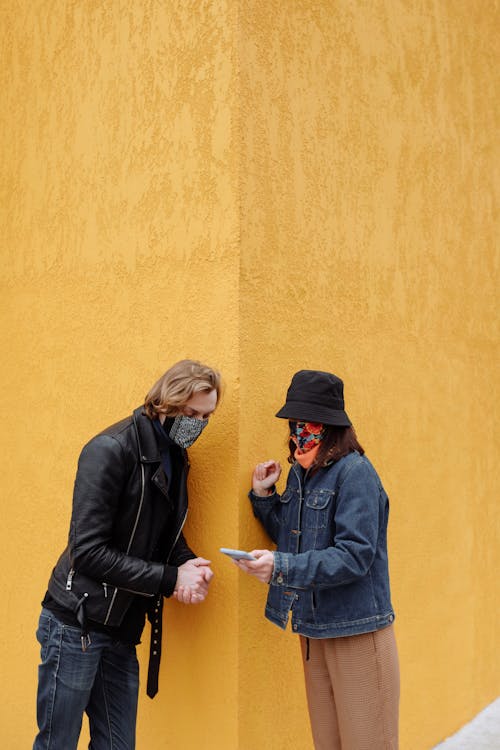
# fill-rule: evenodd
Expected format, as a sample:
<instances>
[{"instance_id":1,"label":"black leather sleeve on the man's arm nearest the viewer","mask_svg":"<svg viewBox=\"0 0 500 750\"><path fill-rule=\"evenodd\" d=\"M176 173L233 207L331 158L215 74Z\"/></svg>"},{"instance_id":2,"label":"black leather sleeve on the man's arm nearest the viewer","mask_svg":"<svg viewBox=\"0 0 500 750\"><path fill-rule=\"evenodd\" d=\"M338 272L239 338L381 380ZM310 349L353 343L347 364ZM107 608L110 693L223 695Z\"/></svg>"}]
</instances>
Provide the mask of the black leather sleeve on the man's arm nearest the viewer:
<instances>
[{"instance_id":1,"label":"black leather sleeve on the man's arm nearest the viewer","mask_svg":"<svg viewBox=\"0 0 500 750\"><path fill-rule=\"evenodd\" d=\"M73 493L69 534L72 567L95 581L156 594L165 566L130 556L113 547L113 528L121 493L131 470L121 444L108 435L93 438L82 450Z\"/></svg>"}]
</instances>

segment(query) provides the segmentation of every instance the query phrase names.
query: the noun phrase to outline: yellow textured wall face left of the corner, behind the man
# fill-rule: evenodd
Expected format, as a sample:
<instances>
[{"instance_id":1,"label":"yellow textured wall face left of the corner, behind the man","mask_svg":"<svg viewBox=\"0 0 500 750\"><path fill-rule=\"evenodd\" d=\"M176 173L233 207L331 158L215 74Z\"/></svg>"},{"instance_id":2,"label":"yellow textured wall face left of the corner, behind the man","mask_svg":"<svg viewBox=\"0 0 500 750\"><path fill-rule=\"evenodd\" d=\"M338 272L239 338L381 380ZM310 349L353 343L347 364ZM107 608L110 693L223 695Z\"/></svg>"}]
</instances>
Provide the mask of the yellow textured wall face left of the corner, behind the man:
<instances>
[{"instance_id":1,"label":"yellow textured wall face left of the corner, behind the man","mask_svg":"<svg viewBox=\"0 0 500 750\"><path fill-rule=\"evenodd\" d=\"M138 746L164 748L167 734L186 750L237 745L237 579L216 552L238 531L237 443L226 437L238 425L234 27L224 2L1 2L10 750L34 734L33 633L66 541L80 448L185 356L219 367L228 384L191 451L186 526L217 587L198 608L166 606L160 694L151 702L141 687Z\"/></svg>"}]
</instances>

